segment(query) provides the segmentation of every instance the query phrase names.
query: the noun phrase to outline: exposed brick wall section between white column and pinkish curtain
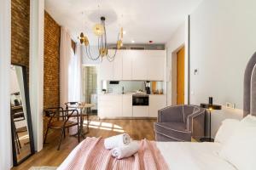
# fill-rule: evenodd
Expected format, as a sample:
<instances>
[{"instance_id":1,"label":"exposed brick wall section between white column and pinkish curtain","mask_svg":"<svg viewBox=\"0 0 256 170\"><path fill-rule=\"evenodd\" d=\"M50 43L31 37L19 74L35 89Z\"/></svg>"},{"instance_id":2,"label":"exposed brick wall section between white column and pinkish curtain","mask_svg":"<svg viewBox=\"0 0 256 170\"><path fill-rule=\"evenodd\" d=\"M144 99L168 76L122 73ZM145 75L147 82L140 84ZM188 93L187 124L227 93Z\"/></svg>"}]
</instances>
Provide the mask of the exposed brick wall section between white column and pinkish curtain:
<instances>
[{"instance_id":1,"label":"exposed brick wall section between white column and pinkish curtain","mask_svg":"<svg viewBox=\"0 0 256 170\"><path fill-rule=\"evenodd\" d=\"M44 108L60 105L61 26L44 12Z\"/></svg>"}]
</instances>

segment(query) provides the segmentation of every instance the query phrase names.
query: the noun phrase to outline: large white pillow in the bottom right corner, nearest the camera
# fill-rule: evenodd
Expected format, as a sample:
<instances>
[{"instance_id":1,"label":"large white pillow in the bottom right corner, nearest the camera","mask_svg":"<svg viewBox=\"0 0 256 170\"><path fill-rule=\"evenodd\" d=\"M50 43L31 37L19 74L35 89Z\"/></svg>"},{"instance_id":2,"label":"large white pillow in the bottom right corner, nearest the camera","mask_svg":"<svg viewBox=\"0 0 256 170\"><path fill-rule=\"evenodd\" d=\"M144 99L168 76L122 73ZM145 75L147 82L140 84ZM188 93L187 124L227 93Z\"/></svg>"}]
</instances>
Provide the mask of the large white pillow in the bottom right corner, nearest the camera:
<instances>
[{"instance_id":1,"label":"large white pillow in the bottom right corner, nearest the camera","mask_svg":"<svg viewBox=\"0 0 256 170\"><path fill-rule=\"evenodd\" d=\"M255 170L256 127L241 123L218 154L239 170Z\"/></svg>"}]
</instances>

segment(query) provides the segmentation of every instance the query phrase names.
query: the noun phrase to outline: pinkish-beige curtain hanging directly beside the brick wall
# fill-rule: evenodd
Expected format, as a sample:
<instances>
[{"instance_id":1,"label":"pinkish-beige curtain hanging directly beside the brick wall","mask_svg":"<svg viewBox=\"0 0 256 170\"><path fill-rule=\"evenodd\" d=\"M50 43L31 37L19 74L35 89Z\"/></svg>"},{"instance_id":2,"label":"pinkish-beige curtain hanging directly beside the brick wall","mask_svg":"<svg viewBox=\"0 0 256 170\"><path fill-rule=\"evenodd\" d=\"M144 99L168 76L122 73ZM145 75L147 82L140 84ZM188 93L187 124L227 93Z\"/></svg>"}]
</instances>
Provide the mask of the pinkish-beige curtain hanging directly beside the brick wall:
<instances>
[{"instance_id":1,"label":"pinkish-beige curtain hanging directly beside the brick wall","mask_svg":"<svg viewBox=\"0 0 256 170\"><path fill-rule=\"evenodd\" d=\"M68 98L68 67L71 59L71 37L66 28L61 27L60 47L60 105L65 107Z\"/></svg>"}]
</instances>

